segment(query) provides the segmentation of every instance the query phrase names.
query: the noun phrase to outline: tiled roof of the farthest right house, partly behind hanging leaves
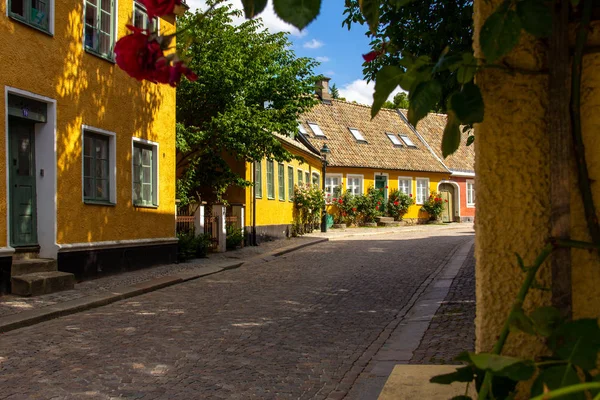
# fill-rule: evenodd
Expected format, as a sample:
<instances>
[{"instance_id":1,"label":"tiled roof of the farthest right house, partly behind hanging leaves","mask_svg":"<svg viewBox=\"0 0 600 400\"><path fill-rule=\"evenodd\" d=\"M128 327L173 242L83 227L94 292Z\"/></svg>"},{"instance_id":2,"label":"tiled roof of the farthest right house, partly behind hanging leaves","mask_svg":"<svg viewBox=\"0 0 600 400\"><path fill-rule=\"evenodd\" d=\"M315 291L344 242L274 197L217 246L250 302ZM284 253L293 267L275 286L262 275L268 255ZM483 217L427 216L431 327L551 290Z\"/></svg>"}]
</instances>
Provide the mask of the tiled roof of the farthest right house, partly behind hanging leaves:
<instances>
[{"instance_id":1,"label":"tiled roof of the farthest right house, partly behind hanging leaves","mask_svg":"<svg viewBox=\"0 0 600 400\"><path fill-rule=\"evenodd\" d=\"M407 110L400 110L404 116ZM473 172L475 171L475 146L467 146L468 134L461 134L462 140L456 152L444 159L442 157L442 136L446 126L447 116L445 114L430 113L417 124L417 132L425 139L435 154L444 161L444 164L452 171Z\"/></svg>"}]
</instances>

